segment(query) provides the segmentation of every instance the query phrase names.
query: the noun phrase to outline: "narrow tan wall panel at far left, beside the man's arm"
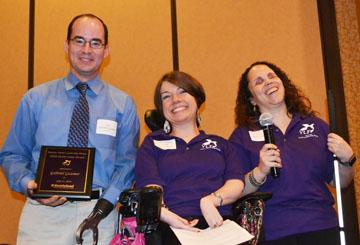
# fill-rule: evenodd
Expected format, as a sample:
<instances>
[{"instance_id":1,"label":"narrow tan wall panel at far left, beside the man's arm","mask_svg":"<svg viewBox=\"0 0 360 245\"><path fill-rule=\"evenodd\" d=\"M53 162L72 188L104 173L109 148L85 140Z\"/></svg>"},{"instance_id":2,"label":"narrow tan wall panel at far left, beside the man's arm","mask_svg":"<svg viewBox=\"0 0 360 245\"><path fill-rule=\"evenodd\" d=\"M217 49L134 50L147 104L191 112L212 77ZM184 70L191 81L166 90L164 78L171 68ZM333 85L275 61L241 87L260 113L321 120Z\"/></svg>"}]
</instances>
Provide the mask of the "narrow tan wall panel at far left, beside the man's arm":
<instances>
[{"instance_id":1,"label":"narrow tan wall panel at far left, beside the man's arm","mask_svg":"<svg viewBox=\"0 0 360 245\"><path fill-rule=\"evenodd\" d=\"M22 0L1 0L0 5L0 145L3 145L19 101L27 90L29 4ZM15 244L23 198L10 191L2 172L0 197L0 244Z\"/></svg>"}]
</instances>

